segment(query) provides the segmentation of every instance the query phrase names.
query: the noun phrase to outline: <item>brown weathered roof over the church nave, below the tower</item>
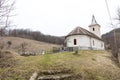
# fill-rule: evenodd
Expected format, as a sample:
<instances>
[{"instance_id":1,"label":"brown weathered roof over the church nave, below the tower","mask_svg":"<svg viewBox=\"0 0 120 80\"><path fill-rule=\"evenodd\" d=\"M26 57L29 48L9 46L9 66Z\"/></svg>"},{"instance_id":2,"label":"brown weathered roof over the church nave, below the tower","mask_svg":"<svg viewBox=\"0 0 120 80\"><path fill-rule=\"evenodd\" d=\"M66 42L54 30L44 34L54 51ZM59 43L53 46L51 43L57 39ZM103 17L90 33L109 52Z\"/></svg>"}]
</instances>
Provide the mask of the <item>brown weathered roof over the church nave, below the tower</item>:
<instances>
[{"instance_id":1,"label":"brown weathered roof over the church nave, below the tower","mask_svg":"<svg viewBox=\"0 0 120 80\"><path fill-rule=\"evenodd\" d=\"M87 35L87 36L102 40L97 35L93 34L92 32L90 32L90 31L88 31L88 30L86 30L84 28L81 28L79 26L76 27L74 30L72 30L66 37L72 36L72 35Z\"/></svg>"}]
</instances>

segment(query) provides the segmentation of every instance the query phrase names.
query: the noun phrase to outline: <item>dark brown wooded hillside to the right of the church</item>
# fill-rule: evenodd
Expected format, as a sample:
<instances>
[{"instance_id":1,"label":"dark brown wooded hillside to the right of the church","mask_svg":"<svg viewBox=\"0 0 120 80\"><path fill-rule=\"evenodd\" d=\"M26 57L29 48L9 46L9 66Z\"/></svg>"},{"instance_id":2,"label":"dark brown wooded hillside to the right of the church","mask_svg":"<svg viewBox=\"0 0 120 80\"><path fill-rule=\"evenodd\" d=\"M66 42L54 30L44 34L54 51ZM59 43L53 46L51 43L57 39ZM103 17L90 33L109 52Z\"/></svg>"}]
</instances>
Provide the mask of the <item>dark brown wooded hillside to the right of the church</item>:
<instances>
[{"instance_id":1,"label":"dark brown wooded hillside to the right of the church","mask_svg":"<svg viewBox=\"0 0 120 80\"><path fill-rule=\"evenodd\" d=\"M106 49L110 49L113 56L120 62L120 28L102 35Z\"/></svg>"}]
</instances>

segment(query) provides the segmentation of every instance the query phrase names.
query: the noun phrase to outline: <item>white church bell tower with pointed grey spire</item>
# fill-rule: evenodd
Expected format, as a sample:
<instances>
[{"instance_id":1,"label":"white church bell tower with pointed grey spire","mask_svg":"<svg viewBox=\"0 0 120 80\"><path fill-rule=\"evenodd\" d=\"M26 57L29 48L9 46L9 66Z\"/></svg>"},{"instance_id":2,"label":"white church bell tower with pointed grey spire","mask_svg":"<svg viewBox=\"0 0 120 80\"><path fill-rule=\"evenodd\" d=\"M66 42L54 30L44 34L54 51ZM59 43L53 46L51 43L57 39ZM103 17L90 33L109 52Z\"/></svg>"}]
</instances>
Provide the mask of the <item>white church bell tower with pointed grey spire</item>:
<instances>
[{"instance_id":1,"label":"white church bell tower with pointed grey spire","mask_svg":"<svg viewBox=\"0 0 120 80\"><path fill-rule=\"evenodd\" d=\"M97 23L94 15L92 16L92 22L89 25L89 31L101 38L100 25Z\"/></svg>"}]
</instances>

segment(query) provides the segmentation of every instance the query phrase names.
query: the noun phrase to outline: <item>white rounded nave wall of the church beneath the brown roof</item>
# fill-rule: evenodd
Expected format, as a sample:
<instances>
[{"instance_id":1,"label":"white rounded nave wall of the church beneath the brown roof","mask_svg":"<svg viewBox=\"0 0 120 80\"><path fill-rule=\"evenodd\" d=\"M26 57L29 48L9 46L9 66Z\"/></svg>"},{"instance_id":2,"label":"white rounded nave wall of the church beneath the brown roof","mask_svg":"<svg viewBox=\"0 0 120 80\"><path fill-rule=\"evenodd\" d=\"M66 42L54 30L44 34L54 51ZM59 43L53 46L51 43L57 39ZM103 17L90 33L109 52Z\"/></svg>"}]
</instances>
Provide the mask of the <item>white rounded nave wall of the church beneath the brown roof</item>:
<instances>
[{"instance_id":1,"label":"white rounded nave wall of the church beneath the brown roof","mask_svg":"<svg viewBox=\"0 0 120 80\"><path fill-rule=\"evenodd\" d=\"M76 44L75 44L76 40ZM67 47L78 47L79 49L104 50L104 42L87 35L72 35L66 38Z\"/></svg>"}]
</instances>

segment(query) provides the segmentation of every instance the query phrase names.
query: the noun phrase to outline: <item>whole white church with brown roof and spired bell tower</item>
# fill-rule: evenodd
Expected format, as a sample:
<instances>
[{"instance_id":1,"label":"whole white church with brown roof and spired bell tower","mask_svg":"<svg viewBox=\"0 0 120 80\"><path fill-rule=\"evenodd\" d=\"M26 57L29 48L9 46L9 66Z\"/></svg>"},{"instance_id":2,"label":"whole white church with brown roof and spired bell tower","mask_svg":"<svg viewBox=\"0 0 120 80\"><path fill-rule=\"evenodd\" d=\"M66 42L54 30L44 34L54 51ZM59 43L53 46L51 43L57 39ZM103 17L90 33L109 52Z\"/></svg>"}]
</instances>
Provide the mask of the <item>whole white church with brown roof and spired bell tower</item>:
<instances>
[{"instance_id":1,"label":"whole white church with brown roof and spired bell tower","mask_svg":"<svg viewBox=\"0 0 120 80\"><path fill-rule=\"evenodd\" d=\"M101 39L100 25L97 23L94 15L92 23L88 26L89 31L76 27L66 36L66 47L82 50L104 50L104 42Z\"/></svg>"}]
</instances>

